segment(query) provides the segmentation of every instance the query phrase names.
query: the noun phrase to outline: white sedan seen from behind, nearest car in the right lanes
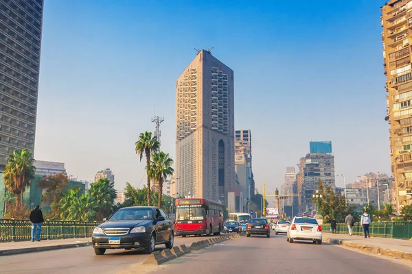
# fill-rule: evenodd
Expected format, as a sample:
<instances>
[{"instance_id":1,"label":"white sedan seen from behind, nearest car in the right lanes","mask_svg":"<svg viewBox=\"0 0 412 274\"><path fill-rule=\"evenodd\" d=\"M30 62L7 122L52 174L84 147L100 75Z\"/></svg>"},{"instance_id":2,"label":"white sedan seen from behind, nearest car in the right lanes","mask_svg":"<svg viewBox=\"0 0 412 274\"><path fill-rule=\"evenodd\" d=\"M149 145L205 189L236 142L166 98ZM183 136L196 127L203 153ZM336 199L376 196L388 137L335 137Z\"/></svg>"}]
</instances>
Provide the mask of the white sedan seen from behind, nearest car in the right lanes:
<instances>
[{"instance_id":1,"label":"white sedan seen from behind, nearest car in the right lanes","mask_svg":"<svg viewBox=\"0 0 412 274\"><path fill-rule=\"evenodd\" d=\"M286 240L290 243L294 240L312 240L322 245L322 227L314 218L295 217L288 227Z\"/></svg>"}]
</instances>

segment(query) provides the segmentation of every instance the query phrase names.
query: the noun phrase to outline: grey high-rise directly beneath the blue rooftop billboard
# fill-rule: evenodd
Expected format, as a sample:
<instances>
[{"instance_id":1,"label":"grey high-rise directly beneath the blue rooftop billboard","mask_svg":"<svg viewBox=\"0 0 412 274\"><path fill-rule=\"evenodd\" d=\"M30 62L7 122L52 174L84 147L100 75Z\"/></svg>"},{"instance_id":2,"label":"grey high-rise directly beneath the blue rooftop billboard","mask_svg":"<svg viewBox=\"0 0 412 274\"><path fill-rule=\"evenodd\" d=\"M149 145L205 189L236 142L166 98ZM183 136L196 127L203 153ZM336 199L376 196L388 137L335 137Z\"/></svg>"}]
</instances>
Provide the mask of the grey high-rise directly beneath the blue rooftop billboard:
<instances>
[{"instance_id":1,"label":"grey high-rise directly beneath the blue rooftop billboard","mask_svg":"<svg viewBox=\"0 0 412 274\"><path fill-rule=\"evenodd\" d=\"M314 191L323 186L330 186L335 191L334 155L331 153L308 153L299 161L299 211L315 210L312 201Z\"/></svg>"}]
</instances>

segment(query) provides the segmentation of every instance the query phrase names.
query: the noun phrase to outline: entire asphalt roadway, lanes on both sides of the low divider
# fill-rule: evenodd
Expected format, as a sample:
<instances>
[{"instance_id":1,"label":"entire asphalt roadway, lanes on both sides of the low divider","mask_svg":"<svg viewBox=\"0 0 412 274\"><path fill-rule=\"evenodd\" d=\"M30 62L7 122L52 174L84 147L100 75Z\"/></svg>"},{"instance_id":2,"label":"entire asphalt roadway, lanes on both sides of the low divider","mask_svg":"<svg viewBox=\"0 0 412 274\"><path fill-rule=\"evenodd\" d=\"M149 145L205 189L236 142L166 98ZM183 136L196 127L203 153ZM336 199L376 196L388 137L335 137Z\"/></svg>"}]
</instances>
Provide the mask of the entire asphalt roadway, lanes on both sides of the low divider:
<instances>
[{"instance_id":1,"label":"entire asphalt roadway, lanes on both sides of the low divider","mask_svg":"<svg viewBox=\"0 0 412 274\"><path fill-rule=\"evenodd\" d=\"M190 245L209 237L177 237L176 245ZM162 246L160 246L163 248ZM242 236L161 266L144 266L140 251L107 251L95 256L92 247L0 257L0 273L412 273L412 264L395 263L336 245L286 242L284 235ZM190 271L188 271L190 270Z\"/></svg>"}]
</instances>

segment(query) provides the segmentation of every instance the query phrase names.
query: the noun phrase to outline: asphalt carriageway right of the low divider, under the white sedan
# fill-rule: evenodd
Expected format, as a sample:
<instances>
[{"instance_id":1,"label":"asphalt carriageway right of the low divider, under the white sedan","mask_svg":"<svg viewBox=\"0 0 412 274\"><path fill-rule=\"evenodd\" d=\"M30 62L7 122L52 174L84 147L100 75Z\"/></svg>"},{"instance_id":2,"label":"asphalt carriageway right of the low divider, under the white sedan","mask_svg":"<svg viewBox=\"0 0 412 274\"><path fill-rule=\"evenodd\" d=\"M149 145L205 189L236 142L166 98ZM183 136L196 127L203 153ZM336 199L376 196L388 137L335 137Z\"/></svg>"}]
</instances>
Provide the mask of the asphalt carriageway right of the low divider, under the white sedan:
<instances>
[{"instance_id":1,"label":"asphalt carriageway right of the low divider, under the white sedan","mask_svg":"<svg viewBox=\"0 0 412 274\"><path fill-rule=\"evenodd\" d=\"M409 262L397 264L327 243L290 244L284 235L241 237L224 243L157 266L151 273L412 273ZM128 273L148 273L142 266L133 270Z\"/></svg>"}]
</instances>

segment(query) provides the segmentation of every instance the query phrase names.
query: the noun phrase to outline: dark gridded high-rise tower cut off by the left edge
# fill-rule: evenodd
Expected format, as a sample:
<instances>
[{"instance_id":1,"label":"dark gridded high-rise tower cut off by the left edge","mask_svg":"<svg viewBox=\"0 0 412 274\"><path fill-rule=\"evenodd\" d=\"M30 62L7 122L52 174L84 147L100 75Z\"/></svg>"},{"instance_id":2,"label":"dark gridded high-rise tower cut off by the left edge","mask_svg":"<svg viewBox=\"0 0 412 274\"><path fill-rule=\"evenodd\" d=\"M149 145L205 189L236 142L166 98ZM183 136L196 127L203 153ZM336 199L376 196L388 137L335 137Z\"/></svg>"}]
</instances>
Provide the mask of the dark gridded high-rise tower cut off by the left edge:
<instances>
[{"instance_id":1,"label":"dark gridded high-rise tower cut off by the left edge","mask_svg":"<svg viewBox=\"0 0 412 274\"><path fill-rule=\"evenodd\" d=\"M34 151L43 0L0 1L0 170Z\"/></svg>"}]
</instances>

